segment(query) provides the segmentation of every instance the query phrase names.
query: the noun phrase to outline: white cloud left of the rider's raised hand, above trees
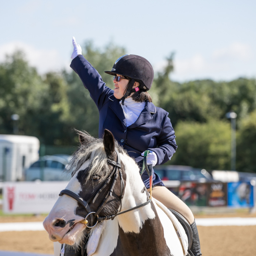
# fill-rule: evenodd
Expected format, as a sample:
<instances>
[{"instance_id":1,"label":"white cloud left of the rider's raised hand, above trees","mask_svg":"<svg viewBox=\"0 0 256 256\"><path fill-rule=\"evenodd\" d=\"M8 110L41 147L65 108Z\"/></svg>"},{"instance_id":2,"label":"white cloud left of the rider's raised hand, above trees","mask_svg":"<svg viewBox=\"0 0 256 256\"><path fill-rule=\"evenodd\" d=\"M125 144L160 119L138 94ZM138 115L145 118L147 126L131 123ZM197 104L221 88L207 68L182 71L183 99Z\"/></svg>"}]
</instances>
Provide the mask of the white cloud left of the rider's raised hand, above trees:
<instances>
[{"instance_id":1,"label":"white cloud left of the rider's raised hand, above trees","mask_svg":"<svg viewBox=\"0 0 256 256\"><path fill-rule=\"evenodd\" d=\"M70 65L70 62L64 60L56 49L36 49L18 41L0 45L0 62L5 60L6 55L12 55L16 50L22 50L29 65L36 67L40 74L67 69Z\"/></svg>"}]
</instances>

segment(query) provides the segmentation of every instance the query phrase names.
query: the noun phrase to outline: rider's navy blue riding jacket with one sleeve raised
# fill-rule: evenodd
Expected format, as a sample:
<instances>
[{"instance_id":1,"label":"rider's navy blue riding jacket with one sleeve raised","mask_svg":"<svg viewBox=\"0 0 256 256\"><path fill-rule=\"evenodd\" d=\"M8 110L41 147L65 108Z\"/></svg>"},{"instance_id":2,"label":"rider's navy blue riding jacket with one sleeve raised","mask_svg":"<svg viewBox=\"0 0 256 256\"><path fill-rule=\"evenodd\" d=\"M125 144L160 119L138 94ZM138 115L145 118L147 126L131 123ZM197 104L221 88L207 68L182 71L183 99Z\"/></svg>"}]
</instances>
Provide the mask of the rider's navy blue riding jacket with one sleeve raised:
<instances>
[{"instance_id":1,"label":"rider's navy blue riding jacket with one sleeve raised","mask_svg":"<svg viewBox=\"0 0 256 256\"><path fill-rule=\"evenodd\" d=\"M157 155L157 165L171 159L177 145L168 112L147 101L136 122L126 127L125 116L119 103L120 99L113 96L113 90L105 85L97 70L84 56L78 55L74 58L70 67L79 75L99 110L100 138L105 129L111 131L119 145L122 145L140 167L143 161L141 153L147 149L154 151ZM146 173L142 175L142 179L145 186L149 188L149 178ZM154 185L163 186L155 173L153 181Z\"/></svg>"}]
</instances>

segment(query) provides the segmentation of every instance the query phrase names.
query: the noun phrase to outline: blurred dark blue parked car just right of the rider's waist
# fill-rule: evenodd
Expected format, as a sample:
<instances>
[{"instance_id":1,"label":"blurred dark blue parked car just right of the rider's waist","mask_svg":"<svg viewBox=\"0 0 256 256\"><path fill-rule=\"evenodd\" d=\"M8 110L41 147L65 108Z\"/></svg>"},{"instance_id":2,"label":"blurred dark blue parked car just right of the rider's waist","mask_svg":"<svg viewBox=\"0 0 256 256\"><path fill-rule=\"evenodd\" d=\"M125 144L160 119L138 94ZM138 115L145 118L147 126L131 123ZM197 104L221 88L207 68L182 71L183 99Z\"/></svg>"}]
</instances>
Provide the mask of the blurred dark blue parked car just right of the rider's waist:
<instances>
[{"instance_id":1,"label":"blurred dark blue parked car just right of the rider's waist","mask_svg":"<svg viewBox=\"0 0 256 256\"><path fill-rule=\"evenodd\" d=\"M212 181L212 176L205 169L196 169L191 166L162 165L154 166L154 172L161 180L179 180L206 182Z\"/></svg>"}]
</instances>

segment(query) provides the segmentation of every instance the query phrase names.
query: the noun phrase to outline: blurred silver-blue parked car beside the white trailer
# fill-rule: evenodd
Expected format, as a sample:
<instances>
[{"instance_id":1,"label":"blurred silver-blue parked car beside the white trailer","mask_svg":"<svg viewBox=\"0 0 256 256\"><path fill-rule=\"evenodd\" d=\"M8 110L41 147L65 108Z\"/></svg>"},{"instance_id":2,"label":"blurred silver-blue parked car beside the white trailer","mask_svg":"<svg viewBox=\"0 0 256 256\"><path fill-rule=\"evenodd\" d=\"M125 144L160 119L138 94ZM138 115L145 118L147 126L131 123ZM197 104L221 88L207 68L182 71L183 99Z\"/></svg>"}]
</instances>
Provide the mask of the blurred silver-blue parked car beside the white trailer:
<instances>
[{"instance_id":1,"label":"blurred silver-blue parked car beside the white trailer","mask_svg":"<svg viewBox=\"0 0 256 256\"><path fill-rule=\"evenodd\" d=\"M26 181L35 180L70 180L71 174L63 172L70 156L53 155L40 157L25 171Z\"/></svg>"}]
</instances>

